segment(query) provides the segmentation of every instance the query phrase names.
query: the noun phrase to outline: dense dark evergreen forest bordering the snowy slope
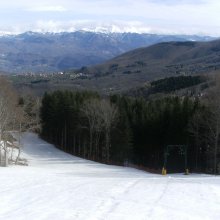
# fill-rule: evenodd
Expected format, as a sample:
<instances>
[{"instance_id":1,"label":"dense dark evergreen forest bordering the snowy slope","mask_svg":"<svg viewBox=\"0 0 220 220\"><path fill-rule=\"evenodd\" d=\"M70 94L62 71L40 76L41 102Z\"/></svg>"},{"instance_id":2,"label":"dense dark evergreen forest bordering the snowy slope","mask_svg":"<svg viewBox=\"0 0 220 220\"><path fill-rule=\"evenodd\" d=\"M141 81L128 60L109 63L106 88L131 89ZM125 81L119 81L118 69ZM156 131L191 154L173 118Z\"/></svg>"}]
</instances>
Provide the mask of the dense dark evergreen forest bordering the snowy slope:
<instances>
[{"instance_id":1,"label":"dense dark evergreen forest bordering the snowy slope","mask_svg":"<svg viewBox=\"0 0 220 220\"><path fill-rule=\"evenodd\" d=\"M161 172L167 145L186 145L190 171L217 173L219 124L213 94L217 92L201 101L178 96L103 98L88 91L45 93L41 136L76 156L154 172ZM184 171L179 148L169 153L167 169Z\"/></svg>"}]
</instances>

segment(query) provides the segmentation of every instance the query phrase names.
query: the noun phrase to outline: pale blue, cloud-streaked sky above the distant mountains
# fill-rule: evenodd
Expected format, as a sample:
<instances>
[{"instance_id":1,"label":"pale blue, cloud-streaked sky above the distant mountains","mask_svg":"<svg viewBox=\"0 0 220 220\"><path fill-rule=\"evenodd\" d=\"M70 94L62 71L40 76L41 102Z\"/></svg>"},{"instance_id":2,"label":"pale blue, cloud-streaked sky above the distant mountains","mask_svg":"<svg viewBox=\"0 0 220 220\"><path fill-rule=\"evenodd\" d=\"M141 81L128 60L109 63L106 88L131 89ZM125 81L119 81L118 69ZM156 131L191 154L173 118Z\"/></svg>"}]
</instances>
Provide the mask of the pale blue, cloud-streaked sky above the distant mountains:
<instances>
[{"instance_id":1,"label":"pale blue, cloud-streaked sky above the distant mountains","mask_svg":"<svg viewBox=\"0 0 220 220\"><path fill-rule=\"evenodd\" d=\"M105 30L220 36L219 0L0 0L0 32Z\"/></svg>"}]
</instances>

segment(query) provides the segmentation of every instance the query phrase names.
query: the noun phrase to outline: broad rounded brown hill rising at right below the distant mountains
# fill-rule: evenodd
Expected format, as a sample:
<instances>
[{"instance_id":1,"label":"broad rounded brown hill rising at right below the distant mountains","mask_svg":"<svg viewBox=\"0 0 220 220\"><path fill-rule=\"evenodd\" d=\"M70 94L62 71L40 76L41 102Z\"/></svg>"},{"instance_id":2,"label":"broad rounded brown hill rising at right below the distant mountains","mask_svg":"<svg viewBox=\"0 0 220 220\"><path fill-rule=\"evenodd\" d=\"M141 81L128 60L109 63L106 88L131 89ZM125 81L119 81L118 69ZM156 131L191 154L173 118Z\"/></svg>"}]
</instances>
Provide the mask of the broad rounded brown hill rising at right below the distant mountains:
<instances>
[{"instance_id":1,"label":"broad rounded brown hill rising at right below the distant mountains","mask_svg":"<svg viewBox=\"0 0 220 220\"><path fill-rule=\"evenodd\" d=\"M96 84L121 89L164 77L209 73L219 69L220 40L215 40L159 43L132 50L101 65L81 68L78 72L90 74Z\"/></svg>"}]
</instances>

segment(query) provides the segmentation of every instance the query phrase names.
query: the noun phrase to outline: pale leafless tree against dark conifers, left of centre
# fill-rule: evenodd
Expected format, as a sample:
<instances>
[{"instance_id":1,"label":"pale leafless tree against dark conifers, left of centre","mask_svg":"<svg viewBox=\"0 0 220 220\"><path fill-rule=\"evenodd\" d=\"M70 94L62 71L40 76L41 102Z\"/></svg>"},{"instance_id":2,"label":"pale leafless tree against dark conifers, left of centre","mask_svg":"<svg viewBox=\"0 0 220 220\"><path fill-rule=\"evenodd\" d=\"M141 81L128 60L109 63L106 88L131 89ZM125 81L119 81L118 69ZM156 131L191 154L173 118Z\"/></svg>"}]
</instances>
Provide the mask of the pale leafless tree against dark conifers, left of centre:
<instances>
[{"instance_id":1,"label":"pale leafless tree against dark conifers, left of centre","mask_svg":"<svg viewBox=\"0 0 220 220\"><path fill-rule=\"evenodd\" d=\"M82 112L88 121L89 130L89 158L109 162L111 148L111 129L116 121L117 108L109 100L91 99L87 101ZM104 146L99 147L100 137L104 136ZM101 155L100 155L101 153Z\"/></svg>"}]
</instances>

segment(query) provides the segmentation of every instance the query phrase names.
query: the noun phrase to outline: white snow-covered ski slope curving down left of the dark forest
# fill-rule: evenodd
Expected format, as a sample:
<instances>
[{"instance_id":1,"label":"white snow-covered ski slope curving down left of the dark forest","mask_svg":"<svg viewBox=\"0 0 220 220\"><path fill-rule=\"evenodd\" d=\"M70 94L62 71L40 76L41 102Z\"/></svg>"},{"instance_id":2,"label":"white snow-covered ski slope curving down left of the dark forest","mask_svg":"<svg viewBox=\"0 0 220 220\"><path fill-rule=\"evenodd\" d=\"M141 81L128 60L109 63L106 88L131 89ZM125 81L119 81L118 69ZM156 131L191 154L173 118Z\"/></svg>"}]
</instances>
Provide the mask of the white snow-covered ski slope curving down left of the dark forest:
<instances>
[{"instance_id":1,"label":"white snow-covered ski slope curving down left of the dark forest","mask_svg":"<svg viewBox=\"0 0 220 220\"><path fill-rule=\"evenodd\" d=\"M220 219L220 177L103 165L33 133L22 143L29 166L0 167L1 220Z\"/></svg>"}]
</instances>

